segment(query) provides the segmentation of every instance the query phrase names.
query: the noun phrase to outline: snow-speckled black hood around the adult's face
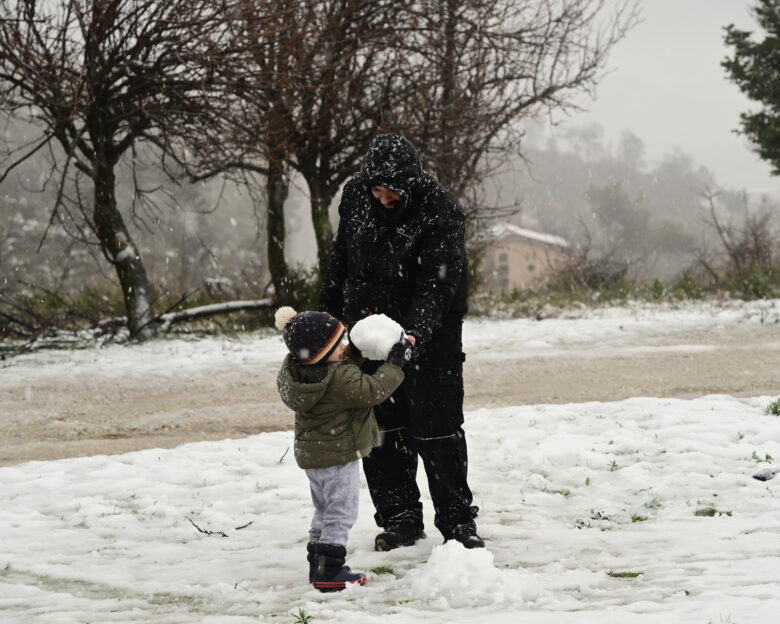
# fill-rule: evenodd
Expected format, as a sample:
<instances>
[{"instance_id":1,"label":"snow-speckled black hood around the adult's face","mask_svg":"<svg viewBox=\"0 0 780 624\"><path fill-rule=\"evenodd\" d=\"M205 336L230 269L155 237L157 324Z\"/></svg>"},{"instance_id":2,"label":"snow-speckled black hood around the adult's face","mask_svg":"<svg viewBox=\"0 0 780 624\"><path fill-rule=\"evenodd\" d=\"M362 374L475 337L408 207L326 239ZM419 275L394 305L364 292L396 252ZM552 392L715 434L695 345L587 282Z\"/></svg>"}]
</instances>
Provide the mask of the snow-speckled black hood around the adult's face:
<instances>
[{"instance_id":1,"label":"snow-speckled black hood around the adult's face","mask_svg":"<svg viewBox=\"0 0 780 624\"><path fill-rule=\"evenodd\" d=\"M399 134L380 134L371 142L360 170L377 213L396 222L408 210L415 191L421 184L423 168L417 150L406 137ZM371 189L382 186L401 196L400 205L388 210L372 194Z\"/></svg>"}]
</instances>

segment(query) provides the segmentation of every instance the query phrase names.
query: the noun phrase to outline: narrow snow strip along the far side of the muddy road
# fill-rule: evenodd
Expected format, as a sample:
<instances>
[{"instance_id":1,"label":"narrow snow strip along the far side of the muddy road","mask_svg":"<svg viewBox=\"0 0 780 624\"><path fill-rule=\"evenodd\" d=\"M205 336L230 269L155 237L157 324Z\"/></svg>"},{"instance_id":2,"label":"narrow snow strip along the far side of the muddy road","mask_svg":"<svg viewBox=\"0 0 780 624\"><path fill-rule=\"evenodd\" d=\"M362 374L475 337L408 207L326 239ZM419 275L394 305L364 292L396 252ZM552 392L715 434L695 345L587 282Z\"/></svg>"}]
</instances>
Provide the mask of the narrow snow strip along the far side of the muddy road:
<instances>
[{"instance_id":1,"label":"narrow snow strip along the far side of the muddy road","mask_svg":"<svg viewBox=\"0 0 780 624\"><path fill-rule=\"evenodd\" d=\"M691 330L745 332L757 325L777 325L780 299L726 301L720 304L634 304L619 308L572 310L558 318L470 320L463 330L469 358L506 359L536 356L594 357L620 351L688 349L690 345L647 346L647 340ZM705 347L706 348L706 347ZM107 343L74 351L37 351L0 362L0 384L23 384L31 378L84 375L182 375L203 370L277 366L285 354L281 334L235 338L158 340L128 349Z\"/></svg>"}]
</instances>

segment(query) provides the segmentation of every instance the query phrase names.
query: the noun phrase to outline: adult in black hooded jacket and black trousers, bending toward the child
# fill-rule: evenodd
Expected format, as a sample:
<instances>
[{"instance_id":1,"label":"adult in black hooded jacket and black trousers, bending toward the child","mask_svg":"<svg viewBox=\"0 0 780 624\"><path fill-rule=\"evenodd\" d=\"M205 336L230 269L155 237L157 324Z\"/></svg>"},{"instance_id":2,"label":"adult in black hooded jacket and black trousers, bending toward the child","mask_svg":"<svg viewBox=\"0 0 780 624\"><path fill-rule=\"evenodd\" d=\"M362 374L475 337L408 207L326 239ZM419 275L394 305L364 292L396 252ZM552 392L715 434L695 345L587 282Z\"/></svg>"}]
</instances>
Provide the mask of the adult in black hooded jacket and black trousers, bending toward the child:
<instances>
[{"instance_id":1,"label":"adult in black hooded jacket and black trousers, bending toward the child","mask_svg":"<svg viewBox=\"0 0 780 624\"><path fill-rule=\"evenodd\" d=\"M424 537L417 458L422 458L445 540L484 546L467 483L461 333L467 302L464 215L423 171L402 136L377 136L344 187L321 307L351 326L386 314L412 336L416 357L404 383L375 408L381 446L363 460L377 550ZM371 372L371 371L366 371Z\"/></svg>"}]
</instances>

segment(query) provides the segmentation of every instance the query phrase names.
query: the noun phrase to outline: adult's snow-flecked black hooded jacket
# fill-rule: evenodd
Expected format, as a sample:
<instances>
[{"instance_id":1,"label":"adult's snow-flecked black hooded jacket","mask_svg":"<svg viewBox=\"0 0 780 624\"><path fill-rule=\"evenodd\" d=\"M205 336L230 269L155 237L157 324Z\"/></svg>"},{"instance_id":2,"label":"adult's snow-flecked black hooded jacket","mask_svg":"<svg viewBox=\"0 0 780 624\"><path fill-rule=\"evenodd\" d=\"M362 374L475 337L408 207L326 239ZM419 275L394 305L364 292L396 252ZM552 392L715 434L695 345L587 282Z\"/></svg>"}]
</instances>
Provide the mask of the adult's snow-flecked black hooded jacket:
<instances>
[{"instance_id":1,"label":"adult's snow-flecked black hooded jacket","mask_svg":"<svg viewBox=\"0 0 780 624\"><path fill-rule=\"evenodd\" d=\"M401 196L387 209L371 188ZM338 233L320 307L352 325L383 313L420 343L468 309L464 215L457 199L423 171L402 136L374 139L344 187Z\"/></svg>"}]
</instances>

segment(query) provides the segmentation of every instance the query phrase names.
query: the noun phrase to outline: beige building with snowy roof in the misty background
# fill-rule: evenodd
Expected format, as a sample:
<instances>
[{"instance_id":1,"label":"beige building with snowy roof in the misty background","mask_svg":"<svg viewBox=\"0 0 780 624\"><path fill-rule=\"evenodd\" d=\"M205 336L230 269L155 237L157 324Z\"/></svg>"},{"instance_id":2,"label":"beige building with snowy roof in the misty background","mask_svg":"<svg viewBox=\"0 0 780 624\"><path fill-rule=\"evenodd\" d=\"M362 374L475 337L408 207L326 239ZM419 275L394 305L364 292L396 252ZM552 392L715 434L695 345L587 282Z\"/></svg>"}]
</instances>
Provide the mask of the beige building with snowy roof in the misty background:
<instances>
[{"instance_id":1,"label":"beige building with snowy roof in the misty background","mask_svg":"<svg viewBox=\"0 0 780 624\"><path fill-rule=\"evenodd\" d=\"M569 261L571 247L560 236L502 223L488 232L482 260L485 286L494 292L541 286Z\"/></svg>"}]
</instances>

